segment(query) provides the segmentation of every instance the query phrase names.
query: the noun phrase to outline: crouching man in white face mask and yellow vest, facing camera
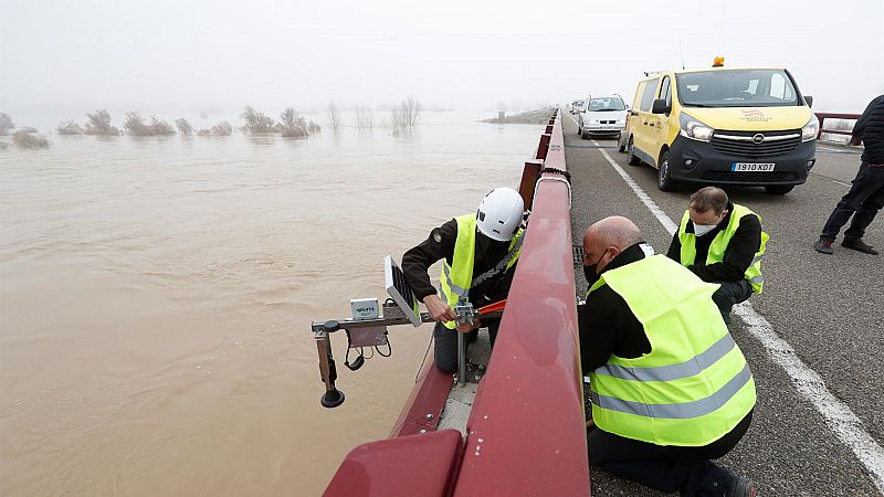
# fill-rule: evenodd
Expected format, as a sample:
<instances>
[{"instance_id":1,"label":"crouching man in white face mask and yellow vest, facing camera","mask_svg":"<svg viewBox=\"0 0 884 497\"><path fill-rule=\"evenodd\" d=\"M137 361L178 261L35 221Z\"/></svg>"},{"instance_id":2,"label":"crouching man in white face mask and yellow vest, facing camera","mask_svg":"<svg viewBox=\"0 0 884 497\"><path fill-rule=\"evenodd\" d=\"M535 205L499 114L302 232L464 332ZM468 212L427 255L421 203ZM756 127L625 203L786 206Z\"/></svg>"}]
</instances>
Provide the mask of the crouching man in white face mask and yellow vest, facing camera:
<instances>
[{"instance_id":1,"label":"crouching man in white face mask and yellow vest, facing camera","mask_svg":"<svg viewBox=\"0 0 884 497\"><path fill-rule=\"evenodd\" d=\"M666 256L704 282L720 285L712 299L730 324L734 304L761 294L767 240L758 214L730 202L720 188L706 187L691 195Z\"/></svg>"}]
</instances>

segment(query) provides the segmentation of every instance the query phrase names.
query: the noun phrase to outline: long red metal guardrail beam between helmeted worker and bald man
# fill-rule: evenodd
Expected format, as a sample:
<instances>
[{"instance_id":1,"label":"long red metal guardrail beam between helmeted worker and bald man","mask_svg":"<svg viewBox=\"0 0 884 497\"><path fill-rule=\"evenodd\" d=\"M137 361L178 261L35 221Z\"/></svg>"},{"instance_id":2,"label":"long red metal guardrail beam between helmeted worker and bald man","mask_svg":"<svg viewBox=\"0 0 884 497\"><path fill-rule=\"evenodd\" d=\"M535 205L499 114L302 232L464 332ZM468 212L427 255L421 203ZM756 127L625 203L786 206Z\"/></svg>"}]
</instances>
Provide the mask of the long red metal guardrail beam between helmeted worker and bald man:
<instances>
[{"instance_id":1,"label":"long red metal guardrail beam between helmeted worker and bald man","mask_svg":"<svg viewBox=\"0 0 884 497\"><path fill-rule=\"evenodd\" d=\"M558 112L550 125L537 158L565 170ZM570 187L561 175L541 175L528 223L454 496L590 494Z\"/></svg>"}]
</instances>

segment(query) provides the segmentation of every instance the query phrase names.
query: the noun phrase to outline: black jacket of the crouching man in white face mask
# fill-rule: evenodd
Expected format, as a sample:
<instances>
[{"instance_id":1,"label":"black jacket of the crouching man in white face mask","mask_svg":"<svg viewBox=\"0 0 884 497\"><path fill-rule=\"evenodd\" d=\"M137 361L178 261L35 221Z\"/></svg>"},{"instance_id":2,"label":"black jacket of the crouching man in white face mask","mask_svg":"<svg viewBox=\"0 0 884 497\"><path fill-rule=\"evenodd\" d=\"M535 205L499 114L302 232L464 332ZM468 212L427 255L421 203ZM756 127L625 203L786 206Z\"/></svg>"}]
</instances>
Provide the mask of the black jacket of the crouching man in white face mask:
<instances>
[{"instance_id":1,"label":"black jacket of the crouching man in white face mask","mask_svg":"<svg viewBox=\"0 0 884 497\"><path fill-rule=\"evenodd\" d=\"M722 283L722 282L739 282L745 278L746 269L755 258L755 254L761 247L761 223L756 215L744 215L739 222L737 232L730 239L730 243L725 250L724 260L716 264L706 265L706 256L709 254L709 245L715 236L727 228L730 222L730 215L734 212L734 202L727 202L728 213L725 219L715 226L714 230L703 236L697 236L696 248L697 255L694 257L695 264L687 266L695 275L707 283ZM687 221L687 233L694 232L694 222ZM682 242L678 240L678 232L676 231L672 237L670 250L666 252L666 257L681 264L682 262Z\"/></svg>"}]
</instances>

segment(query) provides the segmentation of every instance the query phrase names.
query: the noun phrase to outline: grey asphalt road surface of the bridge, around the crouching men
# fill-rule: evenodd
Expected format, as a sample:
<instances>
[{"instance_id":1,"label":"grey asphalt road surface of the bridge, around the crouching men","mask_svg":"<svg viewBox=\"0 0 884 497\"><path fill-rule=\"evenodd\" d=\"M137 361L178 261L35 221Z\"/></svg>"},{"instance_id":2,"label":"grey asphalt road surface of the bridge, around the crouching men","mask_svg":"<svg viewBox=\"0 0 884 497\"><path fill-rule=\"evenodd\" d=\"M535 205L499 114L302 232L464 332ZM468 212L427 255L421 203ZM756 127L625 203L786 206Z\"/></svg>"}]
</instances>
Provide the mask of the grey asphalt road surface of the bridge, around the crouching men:
<instances>
[{"instance_id":1,"label":"grey asphalt road surface of the bridge, around the crouching men","mask_svg":"<svg viewBox=\"0 0 884 497\"><path fill-rule=\"evenodd\" d=\"M581 139L570 115L566 112L564 117L575 241L581 241L590 223L624 215L639 225L659 253L665 253L671 236L602 150L675 222L696 187L660 191L656 169L628 166L615 140ZM789 194L769 195L760 188L727 189L733 201L761 215L770 234L762 266L765 293L753 296L750 304L794 355L776 350L783 347L771 347L750 332L747 322L735 319L730 330L755 374L758 403L748 434L720 464L753 478L759 495L875 496L882 494L880 478L884 474L884 468L875 466L884 454L884 255L865 255L840 245L834 245L831 256L813 251L822 224L860 165L856 150L836 146L818 146L817 157L808 182ZM865 240L884 248L884 215L870 226ZM585 286L579 271L577 277ZM787 362L788 357L800 360L822 381L790 376L781 366L783 357ZM814 389L831 393L834 408L819 408L825 399L815 395ZM840 405L859 419L852 425L854 433L869 438L851 440L850 430L842 430ZM833 409L834 419L830 415L827 422L823 412L831 414ZM871 454L865 465L856 455L863 451ZM882 472L877 477L866 467L870 464ZM593 469L591 477L596 496L662 495L601 470Z\"/></svg>"}]
</instances>

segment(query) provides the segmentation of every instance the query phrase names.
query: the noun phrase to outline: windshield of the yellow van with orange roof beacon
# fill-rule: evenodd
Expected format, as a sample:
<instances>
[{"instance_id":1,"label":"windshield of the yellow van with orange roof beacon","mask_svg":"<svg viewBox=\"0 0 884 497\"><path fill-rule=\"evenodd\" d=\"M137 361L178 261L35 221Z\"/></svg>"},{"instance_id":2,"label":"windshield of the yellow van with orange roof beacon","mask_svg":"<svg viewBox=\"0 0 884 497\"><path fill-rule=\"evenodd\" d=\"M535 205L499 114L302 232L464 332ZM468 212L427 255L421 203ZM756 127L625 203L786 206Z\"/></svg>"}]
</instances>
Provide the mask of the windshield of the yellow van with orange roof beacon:
<instances>
[{"instance_id":1,"label":"windshield of the yellow van with orange roof beacon","mask_svg":"<svg viewBox=\"0 0 884 497\"><path fill-rule=\"evenodd\" d=\"M676 74L678 101L688 107L776 107L798 104L782 70L718 70Z\"/></svg>"}]
</instances>

